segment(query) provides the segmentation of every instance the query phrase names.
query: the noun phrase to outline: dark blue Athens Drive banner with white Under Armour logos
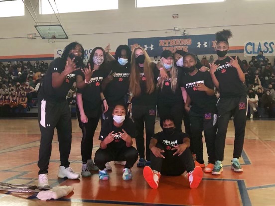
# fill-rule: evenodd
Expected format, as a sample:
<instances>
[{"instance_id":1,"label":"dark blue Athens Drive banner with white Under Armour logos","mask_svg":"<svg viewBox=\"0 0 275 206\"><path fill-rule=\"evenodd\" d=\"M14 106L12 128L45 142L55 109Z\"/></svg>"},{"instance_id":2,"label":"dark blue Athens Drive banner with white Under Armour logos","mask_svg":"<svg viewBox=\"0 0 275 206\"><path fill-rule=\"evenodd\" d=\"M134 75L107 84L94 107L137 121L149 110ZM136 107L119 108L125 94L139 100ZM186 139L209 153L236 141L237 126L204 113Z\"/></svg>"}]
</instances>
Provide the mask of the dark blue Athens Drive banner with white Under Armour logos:
<instances>
[{"instance_id":1,"label":"dark blue Athens Drive banner with white Under Armour logos","mask_svg":"<svg viewBox=\"0 0 275 206\"><path fill-rule=\"evenodd\" d=\"M143 47L150 57L160 56L163 50L183 50L195 54L214 54L216 44L215 34L166 36L152 38L128 39L128 45L133 51L136 47Z\"/></svg>"}]
</instances>

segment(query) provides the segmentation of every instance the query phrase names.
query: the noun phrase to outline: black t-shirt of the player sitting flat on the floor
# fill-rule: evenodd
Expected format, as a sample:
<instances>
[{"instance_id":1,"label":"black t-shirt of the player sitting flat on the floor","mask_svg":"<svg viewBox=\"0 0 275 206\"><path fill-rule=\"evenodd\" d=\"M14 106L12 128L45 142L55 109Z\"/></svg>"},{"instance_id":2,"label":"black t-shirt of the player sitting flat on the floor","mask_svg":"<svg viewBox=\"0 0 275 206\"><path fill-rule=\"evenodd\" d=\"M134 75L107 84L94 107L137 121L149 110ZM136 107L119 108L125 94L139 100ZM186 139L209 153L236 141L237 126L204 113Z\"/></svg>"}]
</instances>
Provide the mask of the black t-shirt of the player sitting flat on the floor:
<instances>
[{"instance_id":1,"label":"black t-shirt of the player sitting flat on the floor","mask_svg":"<svg viewBox=\"0 0 275 206\"><path fill-rule=\"evenodd\" d=\"M174 153L176 150L171 150L174 146L182 144L183 138L189 136L183 132L175 131L172 135L166 135L163 131L158 132L152 136L164 148L164 152Z\"/></svg>"}]
</instances>

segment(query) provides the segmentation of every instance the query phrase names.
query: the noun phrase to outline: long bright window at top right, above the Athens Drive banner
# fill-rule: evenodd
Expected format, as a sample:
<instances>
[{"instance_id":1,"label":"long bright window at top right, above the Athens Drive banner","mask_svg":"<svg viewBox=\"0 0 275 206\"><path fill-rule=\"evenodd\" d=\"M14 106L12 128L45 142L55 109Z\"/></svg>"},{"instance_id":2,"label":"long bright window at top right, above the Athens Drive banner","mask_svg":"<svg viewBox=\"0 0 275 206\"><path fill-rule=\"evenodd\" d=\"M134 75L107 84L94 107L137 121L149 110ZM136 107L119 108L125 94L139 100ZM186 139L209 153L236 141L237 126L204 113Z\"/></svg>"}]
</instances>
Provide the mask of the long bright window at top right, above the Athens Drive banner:
<instances>
[{"instance_id":1,"label":"long bright window at top right, above the Athens Drive banner","mask_svg":"<svg viewBox=\"0 0 275 206\"><path fill-rule=\"evenodd\" d=\"M180 5L190 3L210 3L221 2L225 0L136 0L136 7L151 7L165 5Z\"/></svg>"}]
</instances>

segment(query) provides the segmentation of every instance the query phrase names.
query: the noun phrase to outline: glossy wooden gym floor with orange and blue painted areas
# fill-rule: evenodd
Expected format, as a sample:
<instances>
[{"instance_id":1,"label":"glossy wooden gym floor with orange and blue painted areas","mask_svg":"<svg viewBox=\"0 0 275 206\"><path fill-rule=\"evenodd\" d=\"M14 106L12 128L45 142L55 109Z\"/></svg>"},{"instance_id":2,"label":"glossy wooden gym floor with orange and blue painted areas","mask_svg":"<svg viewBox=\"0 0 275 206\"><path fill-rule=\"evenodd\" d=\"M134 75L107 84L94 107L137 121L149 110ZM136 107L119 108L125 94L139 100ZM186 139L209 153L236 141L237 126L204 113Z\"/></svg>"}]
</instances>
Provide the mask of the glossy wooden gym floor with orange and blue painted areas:
<instances>
[{"instance_id":1,"label":"glossy wooden gym floor with orange and blue painted areas","mask_svg":"<svg viewBox=\"0 0 275 206\"><path fill-rule=\"evenodd\" d=\"M36 119L0 119L0 182L37 185L40 131ZM72 120L73 140L71 167L81 172L81 130ZM0 206L274 206L275 205L275 121L248 120L244 150L240 162L243 173L230 169L233 154L234 127L230 121L227 132L224 172L220 176L204 174L197 189L189 189L184 176L164 177L159 188L149 188L142 169L132 168L133 180L122 179L123 166L114 165L109 181L100 181L97 173L89 178L64 180L57 178L59 151L57 135L49 165L51 187L73 185L74 192L56 201L40 201L35 195L0 192ZM184 126L183 126L184 127ZM183 128L184 130L184 128ZM99 148L100 123L94 137ZM155 131L160 131L159 122ZM206 154L206 148L204 148ZM205 155L205 160L207 160Z\"/></svg>"}]
</instances>

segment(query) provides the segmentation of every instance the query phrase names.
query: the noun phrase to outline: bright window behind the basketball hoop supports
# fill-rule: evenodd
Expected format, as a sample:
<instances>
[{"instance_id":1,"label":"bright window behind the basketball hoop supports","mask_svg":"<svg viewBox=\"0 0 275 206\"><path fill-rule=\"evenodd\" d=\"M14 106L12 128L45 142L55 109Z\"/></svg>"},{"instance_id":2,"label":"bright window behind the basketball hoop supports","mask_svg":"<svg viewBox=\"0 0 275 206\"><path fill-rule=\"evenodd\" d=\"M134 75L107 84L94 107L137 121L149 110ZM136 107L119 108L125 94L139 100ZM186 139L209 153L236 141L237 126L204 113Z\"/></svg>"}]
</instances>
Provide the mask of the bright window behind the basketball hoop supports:
<instances>
[{"instance_id":1,"label":"bright window behind the basketball hoop supports","mask_svg":"<svg viewBox=\"0 0 275 206\"><path fill-rule=\"evenodd\" d=\"M98 11L119 8L119 0L50 0L50 2L56 13ZM40 14L54 13L51 5L48 0L40 0Z\"/></svg>"}]
</instances>

